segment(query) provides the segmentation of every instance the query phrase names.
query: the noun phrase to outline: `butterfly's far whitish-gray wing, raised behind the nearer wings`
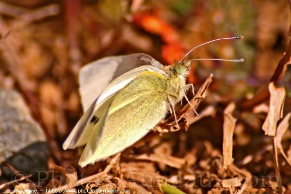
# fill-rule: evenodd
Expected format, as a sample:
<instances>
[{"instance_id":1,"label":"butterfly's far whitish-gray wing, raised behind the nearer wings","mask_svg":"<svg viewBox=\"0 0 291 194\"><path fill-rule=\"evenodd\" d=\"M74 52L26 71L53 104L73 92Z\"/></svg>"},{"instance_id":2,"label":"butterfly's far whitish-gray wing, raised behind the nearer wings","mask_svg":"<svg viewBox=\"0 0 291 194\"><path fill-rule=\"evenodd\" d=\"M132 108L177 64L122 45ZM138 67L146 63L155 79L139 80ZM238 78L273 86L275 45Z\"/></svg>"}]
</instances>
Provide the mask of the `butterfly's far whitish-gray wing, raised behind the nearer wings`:
<instances>
[{"instance_id":1,"label":"butterfly's far whitish-gray wing, raised behind the nearer wings","mask_svg":"<svg viewBox=\"0 0 291 194\"><path fill-rule=\"evenodd\" d=\"M157 69L162 68L162 65L158 61L143 53L106 57L82 67L79 74L79 84L84 112L111 81L129 70L142 65L151 65ZM115 88L124 87L132 80L129 78L133 76L128 74L126 78L119 79L119 82L123 81L123 84L119 83L119 87Z\"/></svg>"}]
</instances>

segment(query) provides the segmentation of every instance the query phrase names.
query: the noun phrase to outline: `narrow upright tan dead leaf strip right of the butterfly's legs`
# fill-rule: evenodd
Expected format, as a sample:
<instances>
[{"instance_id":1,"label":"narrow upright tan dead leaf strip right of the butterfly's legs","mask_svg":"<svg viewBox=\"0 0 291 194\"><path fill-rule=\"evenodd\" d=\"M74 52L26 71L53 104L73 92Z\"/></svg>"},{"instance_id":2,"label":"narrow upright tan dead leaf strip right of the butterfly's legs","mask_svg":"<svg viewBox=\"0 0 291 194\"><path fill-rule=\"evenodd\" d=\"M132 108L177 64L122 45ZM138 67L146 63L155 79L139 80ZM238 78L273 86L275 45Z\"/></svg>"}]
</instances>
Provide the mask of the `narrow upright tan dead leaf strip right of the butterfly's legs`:
<instances>
[{"instance_id":1,"label":"narrow upright tan dead leaf strip right of the butterfly's legs","mask_svg":"<svg viewBox=\"0 0 291 194\"><path fill-rule=\"evenodd\" d=\"M235 128L236 118L232 116L235 110L235 104L230 103L224 111L223 124L223 168L226 169L232 162L232 137Z\"/></svg>"}]
</instances>

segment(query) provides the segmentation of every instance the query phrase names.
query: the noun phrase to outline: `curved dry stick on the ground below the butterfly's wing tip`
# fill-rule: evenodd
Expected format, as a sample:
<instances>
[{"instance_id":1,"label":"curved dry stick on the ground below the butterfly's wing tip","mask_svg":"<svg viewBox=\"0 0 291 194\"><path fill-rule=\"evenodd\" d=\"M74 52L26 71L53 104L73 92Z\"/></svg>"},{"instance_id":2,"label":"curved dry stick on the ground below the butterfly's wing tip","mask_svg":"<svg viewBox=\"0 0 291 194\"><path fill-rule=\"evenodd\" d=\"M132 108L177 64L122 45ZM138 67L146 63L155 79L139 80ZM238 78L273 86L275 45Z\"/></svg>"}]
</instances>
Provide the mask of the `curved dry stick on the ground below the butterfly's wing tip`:
<instances>
[{"instance_id":1,"label":"curved dry stick on the ground below the butterfly's wing tip","mask_svg":"<svg viewBox=\"0 0 291 194\"><path fill-rule=\"evenodd\" d=\"M98 174L95 174L95 175L92 175L90 177L82 178L82 179L76 181L76 183L75 183L75 185L73 187L77 187L79 185L88 183L91 180L94 180L94 179L97 179L97 178L100 178L100 177L103 177L104 175L106 175L116 165L116 163L119 160L120 155L121 155L121 153L116 154L111 159L111 161L109 162L109 164L106 166L106 168L102 172L100 172ZM58 193L60 191L65 191L65 189L68 189L68 188L69 188L68 185L64 185L64 186L55 188L55 189L49 191L48 193L43 193L43 194L54 194L54 193Z\"/></svg>"}]
</instances>

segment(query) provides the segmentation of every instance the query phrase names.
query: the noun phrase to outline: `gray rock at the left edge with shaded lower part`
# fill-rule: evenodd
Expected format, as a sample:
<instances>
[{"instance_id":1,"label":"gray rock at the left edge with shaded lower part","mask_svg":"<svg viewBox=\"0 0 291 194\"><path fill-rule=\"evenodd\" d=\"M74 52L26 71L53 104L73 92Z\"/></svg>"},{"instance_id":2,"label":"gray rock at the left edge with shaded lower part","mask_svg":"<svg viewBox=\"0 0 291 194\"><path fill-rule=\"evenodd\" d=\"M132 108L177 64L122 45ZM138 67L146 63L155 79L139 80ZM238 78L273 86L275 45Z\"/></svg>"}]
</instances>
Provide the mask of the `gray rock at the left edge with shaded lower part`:
<instances>
[{"instance_id":1,"label":"gray rock at the left edge with shaded lower part","mask_svg":"<svg viewBox=\"0 0 291 194\"><path fill-rule=\"evenodd\" d=\"M5 162L18 171L35 174L46 170L48 145L37 122L32 119L29 108L16 91L0 88L0 167L2 173L11 175Z\"/></svg>"}]
</instances>

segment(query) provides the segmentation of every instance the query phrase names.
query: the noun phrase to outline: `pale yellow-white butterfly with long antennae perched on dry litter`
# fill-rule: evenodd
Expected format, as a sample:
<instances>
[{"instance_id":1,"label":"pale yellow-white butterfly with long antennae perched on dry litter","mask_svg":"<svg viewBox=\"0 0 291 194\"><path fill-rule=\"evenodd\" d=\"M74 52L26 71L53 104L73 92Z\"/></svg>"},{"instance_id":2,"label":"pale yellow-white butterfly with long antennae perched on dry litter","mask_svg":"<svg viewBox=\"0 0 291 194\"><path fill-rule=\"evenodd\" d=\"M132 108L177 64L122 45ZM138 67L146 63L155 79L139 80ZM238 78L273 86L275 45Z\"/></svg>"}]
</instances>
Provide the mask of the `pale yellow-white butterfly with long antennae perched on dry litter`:
<instances>
[{"instance_id":1,"label":"pale yellow-white butterfly with long antennae perched on dry litter","mask_svg":"<svg viewBox=\"0 0 291 194\"><path fill-rule=\"evenodd\" d=\"M175 104L183 97L189 102L187 90L194 93L193 84L186 84L193 60L184 60L192 50L181 61L168 66L147 54L137 53L106 57L82 67L79 83L84 114L65 140L63 149L86 145L79 160L84 167L131 146L169 111L174 113L178 125Z\"/></svg>"}]
</instances>

